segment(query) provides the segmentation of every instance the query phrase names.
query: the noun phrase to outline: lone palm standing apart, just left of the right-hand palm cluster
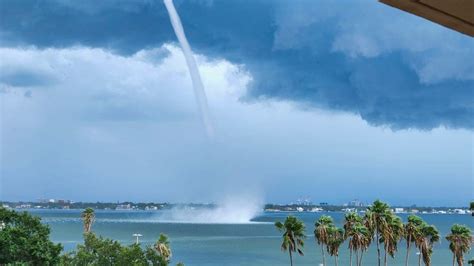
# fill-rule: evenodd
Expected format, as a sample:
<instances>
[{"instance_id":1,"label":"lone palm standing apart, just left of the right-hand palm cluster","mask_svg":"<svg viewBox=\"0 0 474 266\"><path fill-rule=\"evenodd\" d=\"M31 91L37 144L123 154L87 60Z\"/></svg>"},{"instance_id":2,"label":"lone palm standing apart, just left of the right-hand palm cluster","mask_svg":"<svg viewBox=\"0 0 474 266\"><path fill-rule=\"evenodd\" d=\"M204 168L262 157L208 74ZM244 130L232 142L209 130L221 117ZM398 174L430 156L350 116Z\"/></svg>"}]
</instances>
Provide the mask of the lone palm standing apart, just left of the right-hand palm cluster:
<instances>
[{"instance_id":1,"label":"lone palm standing apart, just left of the right-hand palm cluster","mask_svg":"<svg viewBox=\"0 0 474 266\"><path fill-rule=\"evenodd\" d=\"M276 222L276 228L280 232L283 232L283 242L281 244L281 250L287 251L290 255L290 265L293 265L293 252L298 252L303 256L304 247L304 223L294 216L288 216L285 219L285 223Z\"/></svg>"}]
</instances>

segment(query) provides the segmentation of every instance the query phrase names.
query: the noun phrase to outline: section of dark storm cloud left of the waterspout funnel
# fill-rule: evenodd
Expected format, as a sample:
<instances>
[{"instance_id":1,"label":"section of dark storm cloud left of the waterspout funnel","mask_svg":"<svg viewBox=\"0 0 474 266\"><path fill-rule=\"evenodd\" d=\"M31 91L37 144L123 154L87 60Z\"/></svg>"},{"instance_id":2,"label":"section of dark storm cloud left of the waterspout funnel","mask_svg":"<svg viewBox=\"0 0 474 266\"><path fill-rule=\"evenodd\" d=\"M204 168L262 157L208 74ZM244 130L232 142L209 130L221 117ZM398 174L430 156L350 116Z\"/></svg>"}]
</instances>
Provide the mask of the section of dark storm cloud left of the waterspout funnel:
<instances>
[{"instance_id":1,"label":"section of dark storm cloud left of the waterspout funnel","mask_svg":"<svg viewBox=\"0 0 474 266\"><path fill-rule=\"evenodd\" d=\"M2 43L87 45L133 53L170 40L161 2L2 1Z\"/></svg>"}]
</instances>

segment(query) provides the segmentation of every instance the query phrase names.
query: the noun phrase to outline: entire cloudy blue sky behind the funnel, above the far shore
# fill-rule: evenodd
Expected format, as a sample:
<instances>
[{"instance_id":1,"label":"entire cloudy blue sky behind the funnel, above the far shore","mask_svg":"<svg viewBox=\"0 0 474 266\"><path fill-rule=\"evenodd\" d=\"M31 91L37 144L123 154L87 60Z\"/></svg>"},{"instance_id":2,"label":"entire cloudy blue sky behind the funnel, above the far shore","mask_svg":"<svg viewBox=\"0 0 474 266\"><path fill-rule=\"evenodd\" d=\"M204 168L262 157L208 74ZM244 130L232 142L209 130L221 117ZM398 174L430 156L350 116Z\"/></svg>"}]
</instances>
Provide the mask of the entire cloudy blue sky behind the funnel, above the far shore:
<instances>
[{"instance_id":1,"label":"entire cloudy blue sky behind the funnel, above the far shore","mask_svg":"<svg viewBox=\"0 0 474 266\"><path fill-rule=\"evenodd\" d=\"M462 205L474 39L376 1L1 1L6 200Z\"/></svg>"}]
</instances>

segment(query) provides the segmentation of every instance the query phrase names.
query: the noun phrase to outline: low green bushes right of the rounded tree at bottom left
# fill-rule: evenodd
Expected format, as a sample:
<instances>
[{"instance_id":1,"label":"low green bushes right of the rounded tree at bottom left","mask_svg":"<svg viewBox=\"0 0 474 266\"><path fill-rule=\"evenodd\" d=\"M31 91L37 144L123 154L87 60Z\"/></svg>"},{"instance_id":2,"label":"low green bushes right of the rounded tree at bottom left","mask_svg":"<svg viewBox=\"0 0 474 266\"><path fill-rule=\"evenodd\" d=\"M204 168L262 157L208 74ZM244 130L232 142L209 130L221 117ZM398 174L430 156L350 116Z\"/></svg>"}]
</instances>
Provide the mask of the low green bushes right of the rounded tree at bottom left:
<instances>
[{"instance_id":1,"label":"low green bushes right of the rounded tree at bottom left","mask_svg":"<svg viewBox=\"0 0 474 266\"><path fill-rule=\"evenodd\" d=\"M163 256L156 247L168 250L168 256ZM65 254L61 258L62 265L135 265L135 266L164 266L171 258L168 238L161 234L154 247L143 250L140 245L122 246L118 241L97 237L94 233L84 234L84 244Z\"/></svg>"}]
</instances>

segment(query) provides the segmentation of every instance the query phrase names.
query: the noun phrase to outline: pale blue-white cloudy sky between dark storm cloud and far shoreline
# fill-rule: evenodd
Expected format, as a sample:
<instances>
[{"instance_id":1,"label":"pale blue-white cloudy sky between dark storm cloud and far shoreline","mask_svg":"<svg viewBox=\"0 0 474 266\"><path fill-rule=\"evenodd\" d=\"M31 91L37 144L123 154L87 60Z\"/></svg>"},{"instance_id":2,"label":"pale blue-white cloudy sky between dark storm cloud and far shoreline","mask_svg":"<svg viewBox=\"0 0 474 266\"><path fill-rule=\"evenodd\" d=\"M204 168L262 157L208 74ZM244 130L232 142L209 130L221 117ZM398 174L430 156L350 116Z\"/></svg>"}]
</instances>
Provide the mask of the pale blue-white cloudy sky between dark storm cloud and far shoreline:
<instances>
[{"instance_id":1,"label":"pale blue-white cloudy sky between dark storm cloud and far shoreline","mask_svg":"<svg viewBox=\"0 0 474 266\"><path fill-rule=\"evenodd\" d=\"M216 124L209 141L174 45L132 56L87 47L0 48L0 58L2 71L54 80L1 84L0 197L205 201L253 187L269 201L286 201L301 193L334 198L328 187L337 186L348 200L370 180L430 176L429 189L443 198L443 177L469 179L469 132L394 133L348 114L241 101L252 81L245 66L197 55ZM392 185L408 193L408 183ZM453 189L460 191L454 201L470 193Z\"/></svg>"}]
</instances>

